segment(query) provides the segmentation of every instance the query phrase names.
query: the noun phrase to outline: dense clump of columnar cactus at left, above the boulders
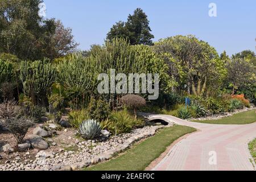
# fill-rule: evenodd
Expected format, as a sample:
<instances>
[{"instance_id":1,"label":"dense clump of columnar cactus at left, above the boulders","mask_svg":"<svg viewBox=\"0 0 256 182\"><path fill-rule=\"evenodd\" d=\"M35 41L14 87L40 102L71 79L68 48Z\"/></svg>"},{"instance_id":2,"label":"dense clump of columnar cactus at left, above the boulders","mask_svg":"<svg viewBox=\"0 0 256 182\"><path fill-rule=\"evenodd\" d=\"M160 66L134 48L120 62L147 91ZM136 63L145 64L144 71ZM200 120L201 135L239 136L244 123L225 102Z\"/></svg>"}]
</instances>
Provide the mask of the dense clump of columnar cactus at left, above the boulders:
<instances>
[{"instance_id":1,"label":"dense clump of columnar cactus at left, above the boulders","mask_svg":"<svg viewBox=\"0 0 256 182\"><path fill-rule=\"evenodd\" d=\"M35 101L35 96L46 96L56 79L56 69L48 60L20 64L20 80L22 80L24 93ZM38 98L39 99L39 98Z\"/></svg>"}]
</instances>

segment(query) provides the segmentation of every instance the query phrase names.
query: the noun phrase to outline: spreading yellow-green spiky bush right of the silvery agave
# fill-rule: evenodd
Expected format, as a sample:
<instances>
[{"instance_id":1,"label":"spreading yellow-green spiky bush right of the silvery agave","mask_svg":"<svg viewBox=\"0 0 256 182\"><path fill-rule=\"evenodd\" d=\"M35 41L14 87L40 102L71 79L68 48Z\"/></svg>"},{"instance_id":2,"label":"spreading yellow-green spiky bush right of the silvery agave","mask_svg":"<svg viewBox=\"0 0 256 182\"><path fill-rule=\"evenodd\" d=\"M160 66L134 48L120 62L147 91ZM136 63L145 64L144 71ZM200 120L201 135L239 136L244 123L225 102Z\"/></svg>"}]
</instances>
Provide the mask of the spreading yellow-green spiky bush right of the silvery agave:
<instances>
[{"instance_id":1,"label":"spreading yellow-green spiky bush right of the silvery agave","mask_svg":"<svg viewBox=\"0 0 256 182\"><path fill-rule=\"evenodd\" d=\"M122 111L113 111L109 119L101 122L102 129L109 130L112 134L118 135L129 133L134 128L142 127L142 119L134 119L126 109Z\"/></svg>"}]
</instances>

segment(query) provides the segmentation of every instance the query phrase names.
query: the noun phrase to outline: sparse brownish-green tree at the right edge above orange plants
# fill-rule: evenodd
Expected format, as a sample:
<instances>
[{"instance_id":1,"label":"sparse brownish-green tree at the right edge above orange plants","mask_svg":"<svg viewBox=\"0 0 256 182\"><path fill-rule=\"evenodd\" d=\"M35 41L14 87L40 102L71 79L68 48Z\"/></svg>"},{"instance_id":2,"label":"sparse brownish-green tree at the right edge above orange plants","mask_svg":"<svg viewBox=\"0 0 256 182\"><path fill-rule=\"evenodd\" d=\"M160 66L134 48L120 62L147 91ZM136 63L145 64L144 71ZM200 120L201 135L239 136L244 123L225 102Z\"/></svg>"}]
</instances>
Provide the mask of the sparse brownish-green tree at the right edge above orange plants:
<instances>
[{"instance_id":1,"label":"sparse brownish-green tree at the right edge above orange plants","mask_svg":"<svg viewBox=\"0 0 256 182\"><path fill-rule=\"evenodd\" d=\"M249 61L233 58L227 63L226 68L228 69L226 81L232 87L232 94L235 94L236 90L243 86L256 83L255 67Z\"/></svg>"}]
</instances>

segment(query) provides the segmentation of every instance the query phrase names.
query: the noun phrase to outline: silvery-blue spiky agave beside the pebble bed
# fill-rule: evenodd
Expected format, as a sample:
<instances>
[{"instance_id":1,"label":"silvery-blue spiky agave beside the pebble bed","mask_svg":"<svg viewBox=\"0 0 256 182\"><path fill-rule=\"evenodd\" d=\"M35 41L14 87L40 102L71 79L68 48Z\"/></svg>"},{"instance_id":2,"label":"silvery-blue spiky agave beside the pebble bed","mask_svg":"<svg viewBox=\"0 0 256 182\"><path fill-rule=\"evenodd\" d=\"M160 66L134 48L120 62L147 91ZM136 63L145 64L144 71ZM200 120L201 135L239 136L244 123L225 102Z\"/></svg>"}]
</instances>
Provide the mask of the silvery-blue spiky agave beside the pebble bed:
<instances>
[{"instance_id":1,"label":"silvery-blue spiky agave beside the pebble bed","mask_svg":"<svg viewBox=\"0 0 256 182\"><path fill-rule=\"evenodd\" d=\"M94 139L100 137L101 125L93 119L88 119L80 124L79 133L82 138L85 139Z\"/></svg>"}]
</instances>

